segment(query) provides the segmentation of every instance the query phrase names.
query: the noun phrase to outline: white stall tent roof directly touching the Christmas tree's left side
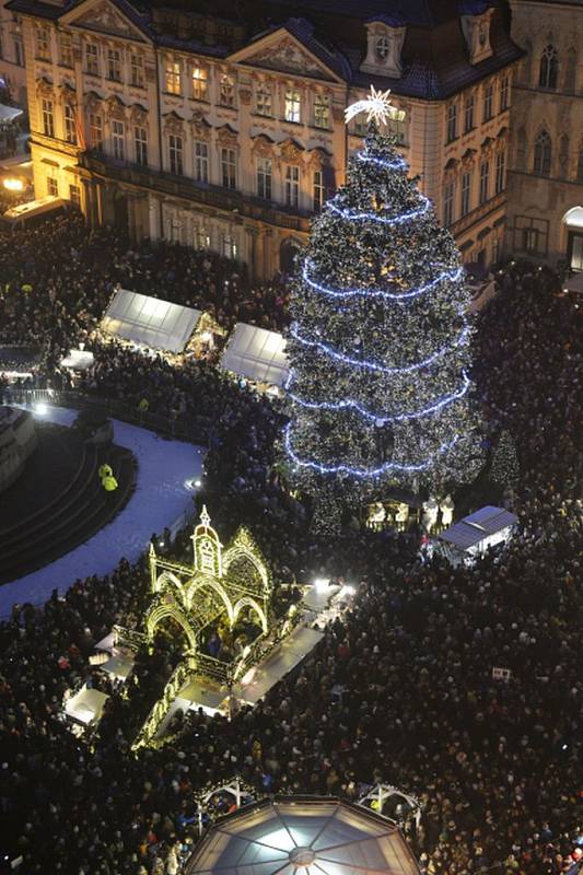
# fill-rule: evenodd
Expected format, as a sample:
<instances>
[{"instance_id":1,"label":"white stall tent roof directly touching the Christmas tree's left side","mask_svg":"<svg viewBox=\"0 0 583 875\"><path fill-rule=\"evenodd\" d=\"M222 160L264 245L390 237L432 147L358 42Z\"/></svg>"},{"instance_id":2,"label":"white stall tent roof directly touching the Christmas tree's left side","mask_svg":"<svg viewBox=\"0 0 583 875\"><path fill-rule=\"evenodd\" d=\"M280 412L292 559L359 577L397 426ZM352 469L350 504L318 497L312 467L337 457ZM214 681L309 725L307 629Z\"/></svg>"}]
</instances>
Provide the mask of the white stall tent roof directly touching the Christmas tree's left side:
<instances>
[{"instance_id":1,"label":"white stall tent roof directly touching the Christmas tree's left side","mask_svg":"<svg viewBox=\"0 0 583 875\"><path fill-rule=\"evenodd\" d=\"M283 386L288 378L285 341L276 331L238 322L221 359L225 371L233 371L255 383Z\"/></svg>"}]
</instances>

